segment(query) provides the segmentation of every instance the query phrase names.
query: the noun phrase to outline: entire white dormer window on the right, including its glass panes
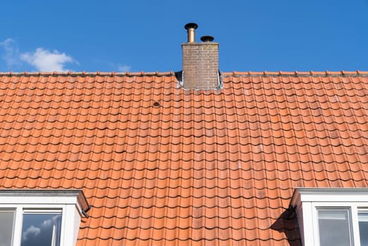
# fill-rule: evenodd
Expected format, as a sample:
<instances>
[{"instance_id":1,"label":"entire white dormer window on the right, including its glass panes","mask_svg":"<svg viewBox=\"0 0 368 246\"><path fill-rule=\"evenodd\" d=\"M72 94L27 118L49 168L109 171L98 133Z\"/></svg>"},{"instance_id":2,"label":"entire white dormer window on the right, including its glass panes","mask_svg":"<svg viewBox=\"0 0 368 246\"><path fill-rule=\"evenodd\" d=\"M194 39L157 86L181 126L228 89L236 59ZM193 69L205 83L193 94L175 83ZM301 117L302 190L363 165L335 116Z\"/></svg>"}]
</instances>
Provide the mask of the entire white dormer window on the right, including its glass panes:
<instances>
[{"instance_id":1,"label":"entire white dormer window on the right, including its glass panes","mask_svg":"<svg viewBox=\"0 0 368 246\"><path fill-rule=\"evenodd\" d=\"M368 245L368 188L296 188L304 246Z\"/></svg>"}]
</instances>

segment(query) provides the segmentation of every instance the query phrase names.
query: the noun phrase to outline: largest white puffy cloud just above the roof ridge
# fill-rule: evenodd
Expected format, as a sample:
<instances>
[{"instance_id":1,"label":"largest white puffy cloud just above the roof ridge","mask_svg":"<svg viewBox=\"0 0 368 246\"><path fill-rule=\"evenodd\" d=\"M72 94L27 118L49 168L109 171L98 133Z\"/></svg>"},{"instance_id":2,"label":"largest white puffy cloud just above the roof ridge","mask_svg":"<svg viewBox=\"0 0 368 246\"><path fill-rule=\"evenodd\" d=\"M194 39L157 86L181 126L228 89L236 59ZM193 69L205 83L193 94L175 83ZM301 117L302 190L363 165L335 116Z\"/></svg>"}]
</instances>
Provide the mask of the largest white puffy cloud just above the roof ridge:
<instances>
[{"instance_id":1,"label":"largest white puffy cloud just above the roof ridge","mask_svg":"<svg viewBox=\"0 0 368 246\"><path fill-rule=\"evenodd\" d=\"M37 48L34 53L23 53L20 55L20 60L44 72L66 72L65 63L76 63L66 53L59 53L58 51L50 52L44 48Z\"/></svg>"}]
</instances>

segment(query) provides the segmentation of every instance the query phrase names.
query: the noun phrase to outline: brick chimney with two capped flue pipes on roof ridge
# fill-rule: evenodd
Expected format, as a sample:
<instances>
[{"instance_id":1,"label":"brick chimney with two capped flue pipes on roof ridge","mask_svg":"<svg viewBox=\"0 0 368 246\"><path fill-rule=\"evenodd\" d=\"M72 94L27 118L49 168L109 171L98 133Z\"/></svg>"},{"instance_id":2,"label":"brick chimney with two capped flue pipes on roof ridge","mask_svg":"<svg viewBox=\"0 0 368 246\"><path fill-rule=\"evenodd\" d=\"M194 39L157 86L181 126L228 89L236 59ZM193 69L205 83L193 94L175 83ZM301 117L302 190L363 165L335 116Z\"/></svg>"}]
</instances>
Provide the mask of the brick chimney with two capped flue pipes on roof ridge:
<instances>
[{"instance_id":1,"label":"brick chimney with two capped flue pipes on roof ridge","mask_svg":"<svg viewBox=\"0 0 368 246\"><path fill-rule=\"evenodd\" d=\"M183 50L183 72L180 85L184 89L220 89L219 76L219 43L211 36L195 41L195 30L198 25L188 23L188 42L181 44Z\"/></svg>"}]
</instances>

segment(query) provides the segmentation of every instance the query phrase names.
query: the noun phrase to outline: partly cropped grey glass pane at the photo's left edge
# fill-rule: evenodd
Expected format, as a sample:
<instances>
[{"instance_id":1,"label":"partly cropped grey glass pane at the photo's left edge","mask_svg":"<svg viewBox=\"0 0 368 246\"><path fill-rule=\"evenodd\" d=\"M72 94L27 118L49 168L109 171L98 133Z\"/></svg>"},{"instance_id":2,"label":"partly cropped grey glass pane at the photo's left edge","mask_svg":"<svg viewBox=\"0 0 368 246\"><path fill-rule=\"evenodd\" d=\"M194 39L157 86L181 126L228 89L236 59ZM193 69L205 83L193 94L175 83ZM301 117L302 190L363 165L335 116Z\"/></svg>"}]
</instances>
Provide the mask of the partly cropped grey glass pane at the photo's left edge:
<instances>
[{"instance_id":1,"label":"partly cropped grey glass pane at the photo's left edge","mask_svg":"<svg viewBox=\"0 0 368 246\"><path fill-rule=\"evenodd\" d=\"M11 246L14 214L14 211L0 210L0 246Z\"/></svg>"}]
</instances>

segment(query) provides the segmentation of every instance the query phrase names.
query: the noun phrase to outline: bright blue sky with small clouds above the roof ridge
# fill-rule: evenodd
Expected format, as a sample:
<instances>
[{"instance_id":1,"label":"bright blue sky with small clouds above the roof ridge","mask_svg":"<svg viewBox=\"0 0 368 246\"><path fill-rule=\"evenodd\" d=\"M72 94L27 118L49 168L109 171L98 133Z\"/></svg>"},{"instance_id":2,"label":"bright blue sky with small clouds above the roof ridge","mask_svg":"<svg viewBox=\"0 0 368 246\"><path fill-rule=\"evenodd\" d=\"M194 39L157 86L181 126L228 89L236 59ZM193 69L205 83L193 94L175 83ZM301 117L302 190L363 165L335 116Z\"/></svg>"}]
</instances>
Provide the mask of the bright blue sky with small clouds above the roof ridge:
<instances>
[{"instance_id":1,"label":"bright blue sky with small clouds above the roof ridge","mask_svg":"<svg viewBox=\"0 0 368 246\"><path fill-rule=\"evenodd\" d=\"M181 70L183 26L220 70L368 71L368 0L1 2L0 71Z\"/></svg>"}]
</instances>

